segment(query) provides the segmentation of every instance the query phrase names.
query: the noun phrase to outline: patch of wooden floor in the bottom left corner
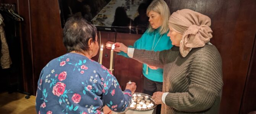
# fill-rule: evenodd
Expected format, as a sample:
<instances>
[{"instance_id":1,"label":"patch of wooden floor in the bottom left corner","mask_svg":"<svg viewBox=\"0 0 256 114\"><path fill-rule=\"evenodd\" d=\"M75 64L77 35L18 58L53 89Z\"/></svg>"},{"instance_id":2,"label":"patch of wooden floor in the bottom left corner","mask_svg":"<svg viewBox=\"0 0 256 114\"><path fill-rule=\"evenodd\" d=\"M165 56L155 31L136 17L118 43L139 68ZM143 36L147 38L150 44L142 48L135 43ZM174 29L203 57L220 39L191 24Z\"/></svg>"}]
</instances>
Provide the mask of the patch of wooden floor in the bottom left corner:
<instances>
[{"instance_id":1,"label":"patch of wooden floor in the bottom left corner","mask_svg":"<svg viewBox=\"0 0 256 114\"><path fill-rule=\"evenodd\" d=\"M0 93L0 114L36 114L36 97L21 93Z\"/></svg>"}]
</instances>

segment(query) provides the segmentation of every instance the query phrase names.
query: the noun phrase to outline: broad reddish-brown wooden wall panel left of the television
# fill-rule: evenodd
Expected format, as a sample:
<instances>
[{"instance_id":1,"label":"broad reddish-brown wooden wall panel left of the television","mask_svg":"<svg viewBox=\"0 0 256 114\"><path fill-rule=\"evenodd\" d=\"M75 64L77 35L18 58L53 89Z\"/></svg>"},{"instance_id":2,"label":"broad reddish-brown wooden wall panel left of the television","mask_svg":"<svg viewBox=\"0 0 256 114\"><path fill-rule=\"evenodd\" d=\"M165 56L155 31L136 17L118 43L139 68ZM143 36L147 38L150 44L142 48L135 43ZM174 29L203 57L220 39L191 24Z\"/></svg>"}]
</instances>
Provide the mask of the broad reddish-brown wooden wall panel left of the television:
<instances>
[{"instance_id":1,"label":"broad reddish-brown wooden wall panel left of the television","mask_svg":"<svg viewBox=\"0 0 256 114\"><path fill-rule=\"evenodd\" d=\"M66 53L62 42L62 28L58 0L30 0L32 62L34 87L42 68L52 59ZM37 88L34 88L34 94Z\"/></svg>"}]
</instances>

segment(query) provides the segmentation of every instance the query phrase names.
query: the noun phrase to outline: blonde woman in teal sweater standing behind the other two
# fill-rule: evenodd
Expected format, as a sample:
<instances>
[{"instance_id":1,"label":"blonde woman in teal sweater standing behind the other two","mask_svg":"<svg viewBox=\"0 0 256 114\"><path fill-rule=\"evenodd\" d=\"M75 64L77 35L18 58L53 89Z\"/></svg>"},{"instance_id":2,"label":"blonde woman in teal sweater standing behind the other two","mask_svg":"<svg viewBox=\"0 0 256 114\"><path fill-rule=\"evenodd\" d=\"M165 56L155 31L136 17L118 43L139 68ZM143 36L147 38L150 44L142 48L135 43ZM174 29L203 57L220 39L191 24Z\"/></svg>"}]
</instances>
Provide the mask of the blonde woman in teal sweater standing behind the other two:
<instances>
[{"instance_id":1,"label":"blonde woman in teal sweater standing behind the other two","mask_svg":"<svg viewBox=\"0 0 256 114\"><path fill-rule=\"evenodd\" d=\"M170 10L164 0L153 0L147 7L147 16L149 17L149 28L139 38L133 46L135 49L145 49L149 51L162 51L172 47L172 41L169 40L167 33L168 19ZM113 44L112 42L107 42ZM109 47L107 47L110 49ZM128 57L124 52L119 52L118 55ZM163 85L163 69L143 64L143 93L153 95L154 92L162 91ZM160 114L160 107L157 107L157 114Z\"/></svg>"}]
</instances>

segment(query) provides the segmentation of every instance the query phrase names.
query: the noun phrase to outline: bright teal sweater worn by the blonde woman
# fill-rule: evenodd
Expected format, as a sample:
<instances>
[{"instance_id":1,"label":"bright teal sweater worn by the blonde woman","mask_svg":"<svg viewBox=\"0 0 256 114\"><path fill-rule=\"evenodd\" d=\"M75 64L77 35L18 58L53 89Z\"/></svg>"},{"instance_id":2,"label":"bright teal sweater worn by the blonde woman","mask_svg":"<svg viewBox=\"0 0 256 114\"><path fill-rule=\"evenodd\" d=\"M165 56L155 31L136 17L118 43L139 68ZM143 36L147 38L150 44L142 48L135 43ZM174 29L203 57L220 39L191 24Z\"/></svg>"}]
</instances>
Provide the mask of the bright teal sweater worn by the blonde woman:
<instances>
[{"instance_id":1,"label":"bright teal sweater worn by the blonde woman","mask_svg":"<svg viewBox=\"0 0 256 114\"><path fill-rule=\"evenodd\" d=\"M160 28L160 27L159 27ZM152 50L153 42L154 42L154 51L162 51L172 48L172 41L170 40L170 37L167 36L167 33L163 34L160 38L159 28L154 30L153 32L148 32L148 30L139 38L133 46L135 49L145 49L145 50ZM156 35L156 39L154 41ZM159 40L160 38L160 40ZM157 41L159 42L157 43ZM124 57L128 57L128 55L125 52L119 52L118 55L123 55ZM129 58L129 57L128 57ZM163 82L163 69L158 68L157 70L152 70L151 68L148 68L148 74L146 74L147 71L147 65L143 64L143 74L147 79L150 79L152 81L156 82Z\"/></svg>"}]
</instances>

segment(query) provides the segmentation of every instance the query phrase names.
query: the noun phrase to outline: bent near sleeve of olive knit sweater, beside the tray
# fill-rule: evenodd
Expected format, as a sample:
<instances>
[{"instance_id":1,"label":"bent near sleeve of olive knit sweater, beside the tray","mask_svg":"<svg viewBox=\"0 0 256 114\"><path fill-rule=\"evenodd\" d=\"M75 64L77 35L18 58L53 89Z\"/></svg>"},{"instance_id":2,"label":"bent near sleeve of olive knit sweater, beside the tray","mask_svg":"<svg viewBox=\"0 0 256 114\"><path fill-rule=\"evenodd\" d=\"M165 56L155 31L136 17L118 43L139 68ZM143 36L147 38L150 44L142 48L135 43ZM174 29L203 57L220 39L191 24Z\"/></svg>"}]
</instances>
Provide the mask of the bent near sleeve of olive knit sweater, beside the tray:
<instances>
[{"instance_id":1,"label":"bent near sleeve of olive knit sweater, beside the tray","mask_svg":"<svg viewBox=\"0 0 256 114\"><path fill-rule=\"evenodd\" d=\"M190 81L188 91L169 93L165 97L166 105L178 111L204 111L211 108L216 98L221 95L222 61L217 49L204 50L192 58L187 76Z\"/></svg>"}]
</instances>

